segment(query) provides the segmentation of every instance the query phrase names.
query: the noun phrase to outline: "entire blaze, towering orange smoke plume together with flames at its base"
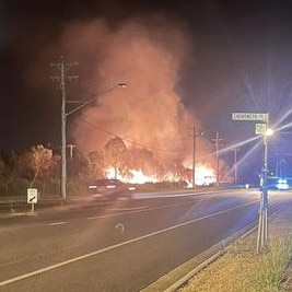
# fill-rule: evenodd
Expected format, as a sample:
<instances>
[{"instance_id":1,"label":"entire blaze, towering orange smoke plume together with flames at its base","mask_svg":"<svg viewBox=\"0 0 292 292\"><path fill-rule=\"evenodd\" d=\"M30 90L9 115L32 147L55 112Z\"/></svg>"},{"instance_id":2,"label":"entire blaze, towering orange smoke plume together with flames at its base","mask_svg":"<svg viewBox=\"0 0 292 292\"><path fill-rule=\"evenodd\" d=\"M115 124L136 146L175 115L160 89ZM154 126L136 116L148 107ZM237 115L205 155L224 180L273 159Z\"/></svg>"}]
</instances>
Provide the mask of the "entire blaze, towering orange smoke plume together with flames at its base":
<instances>
[{"instance_id":1,"label":"entire blaze, towering orange smoke plume together with flames at its base","mask_svg":"<svg viewBox=\"0 0 292 292\"><path fill-rule=\"evenodd\" d=\"M96 96L68 120L68 142L89 159L92 179L191 182L196 163L196 185L214 183L211 142L197 139L194 162L188 135L192 127L202 128L196 118L200 109L184 103L180 81L185 66L194 61L188 38L182 23L161 14L115 24L97 19L67 25L44 51L45 59L58 50L78 60L79 90L89 98L77 100ZM107 91L120 82L127 89ZM70 86L68 95L75 98Z\"/></svg>"}]
</instances>

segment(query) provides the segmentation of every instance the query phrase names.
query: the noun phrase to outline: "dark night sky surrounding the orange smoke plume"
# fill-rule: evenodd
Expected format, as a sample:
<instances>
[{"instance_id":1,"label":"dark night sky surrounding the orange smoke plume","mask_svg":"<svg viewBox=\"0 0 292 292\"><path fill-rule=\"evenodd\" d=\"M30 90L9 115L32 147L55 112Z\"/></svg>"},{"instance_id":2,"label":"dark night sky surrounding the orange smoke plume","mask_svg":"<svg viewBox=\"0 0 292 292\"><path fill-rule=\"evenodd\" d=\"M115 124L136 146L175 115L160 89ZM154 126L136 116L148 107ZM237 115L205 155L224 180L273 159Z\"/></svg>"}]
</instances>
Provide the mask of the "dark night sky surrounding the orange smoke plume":
<instances>
[{"instance_id":1,"label":"dark night sky surrounding the orange smoke plume","mask_svg":"<svg viewBox=\"0 0 292 292\"><path fill-rule=\"evenodd\" d=\"M254 136L254 124L232 121L233 112L269 113L278 128L291 122L289 0L9 0L1 1L0 13L1 150L58 145L60 100L49 63L63 54L56 44L74 21L103 19L115 31L131 17L160 14L184 30L188 58L174 86L210 138L219 131L230 145ZM80 62L73 73L82 78L86 70ZM89 94L79 84L71 91L74 98ZM275 152L289 153L290 140L279 135Z\"/></svg>"}]
</instances>

